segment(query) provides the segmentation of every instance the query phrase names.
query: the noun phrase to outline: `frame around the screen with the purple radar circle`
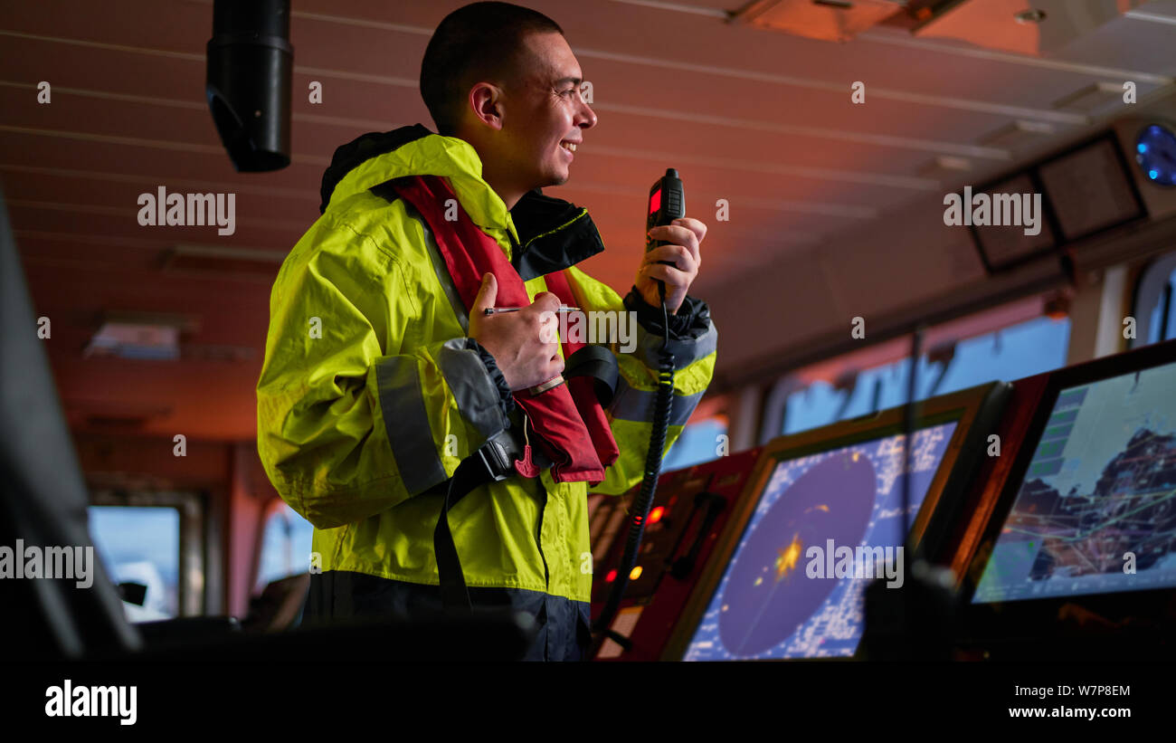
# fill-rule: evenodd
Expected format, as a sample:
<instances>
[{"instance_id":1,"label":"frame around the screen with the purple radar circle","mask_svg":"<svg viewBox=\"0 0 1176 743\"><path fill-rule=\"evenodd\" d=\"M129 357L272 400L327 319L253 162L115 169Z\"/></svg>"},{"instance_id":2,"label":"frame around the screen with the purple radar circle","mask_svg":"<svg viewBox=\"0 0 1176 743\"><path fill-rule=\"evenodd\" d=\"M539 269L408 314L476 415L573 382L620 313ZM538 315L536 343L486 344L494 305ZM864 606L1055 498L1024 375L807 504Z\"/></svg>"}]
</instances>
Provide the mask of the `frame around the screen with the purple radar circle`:
<instances>
[{"instance_id":1,"label":"frame around the screen with the purple radar circle","mask_svg":"<svg viewBox=\"0 0 1176 743\"><path fill-rule=\"evenodd\" d=\"M946 493L954 491L957 497L964 495L970 476L975 473L987 448L988 430L985 429L995 423L996 414L1008 399L1008 393L1009 386L1007 383L989 382L916 403L916 431L950 421L955 421L956 427L911 527L908 541L910 548L917 550L923 542L929 541L935 535L935 530L938 528L936 524L941 522L940 520L933 521L933 515L944 501L950 500L943 497ZM903 406L889 408L822 428L780 436L764 446L751 470L751 476L740 494L736 511L727 521L699 583L690 593L681 618L670 632L662 654L663 661L680 661L684 657L690 640L694 637L715 590L717 590L719 582L743 537L747 524L763 497L764 488L767 488L776 464L784 460L837 449L860 441L901 434L904 410ZM982 421L982 424L977 426L977 420Z\"/></svg>"}]
</instances>

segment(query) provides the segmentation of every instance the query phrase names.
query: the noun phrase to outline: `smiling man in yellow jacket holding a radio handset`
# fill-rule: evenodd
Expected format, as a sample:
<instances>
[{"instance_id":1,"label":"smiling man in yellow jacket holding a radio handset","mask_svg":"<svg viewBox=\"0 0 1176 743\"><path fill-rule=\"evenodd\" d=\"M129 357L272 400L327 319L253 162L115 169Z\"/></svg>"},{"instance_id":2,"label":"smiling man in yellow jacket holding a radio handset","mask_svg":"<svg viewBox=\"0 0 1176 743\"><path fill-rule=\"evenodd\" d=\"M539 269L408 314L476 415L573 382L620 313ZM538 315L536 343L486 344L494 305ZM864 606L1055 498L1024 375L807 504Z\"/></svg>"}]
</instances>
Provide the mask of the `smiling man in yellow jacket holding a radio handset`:
<instances>
[{"instance_id":1,"label":"smiling man in yellow jacket holding a radio handset","mask_svg":"<svg viewBox=\"0 0 1176 743\"><path fill-rule=\"evenodd\" d=\"M667 446L710 382L716 335L687 296L706 234L697 220L652 233L670 245L642 256L623 302L573 267L603 249L600 235L584 209L540 189L568 180L596 123L581 78L547 16L469 5L441 22L421 67L440 134L416 125L336 150L323 214L274 283L258 382L266 471L315 526L308 620L437 611L446 482L509 434L536 444L534 461L520 457L517 473L448 513L469 600L535 618L527 658L579 660L590 642L586 497L589 483L616 495L641 478L663 334L657 281L676 368ZM499 269L472 273L479 261ZM603 430L595 401L560 383L557 286L583 310L639 317L630 353L607 339L620 380ZM512 290L522 310L485 314ZM534 407L567 410L573 399L582 416L553 421Z\"/></svg>"}]
</instances>

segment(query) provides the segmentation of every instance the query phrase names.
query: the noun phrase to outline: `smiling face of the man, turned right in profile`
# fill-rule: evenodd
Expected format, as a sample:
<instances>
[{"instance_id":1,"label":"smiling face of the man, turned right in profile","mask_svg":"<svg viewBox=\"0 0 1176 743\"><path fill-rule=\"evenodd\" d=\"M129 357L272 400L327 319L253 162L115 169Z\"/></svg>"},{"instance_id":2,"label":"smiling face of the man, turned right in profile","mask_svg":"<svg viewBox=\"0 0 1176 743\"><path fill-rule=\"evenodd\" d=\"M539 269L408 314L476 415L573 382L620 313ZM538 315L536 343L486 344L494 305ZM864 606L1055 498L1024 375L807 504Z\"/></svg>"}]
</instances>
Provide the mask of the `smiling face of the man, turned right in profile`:
<instances>
[{"instance_id":1,"label":"smiling face of the man, turned right in profile","mask_svg":"<svg viewBox=\"0 0 1176 743\"><path fill-rule=\"evenodd\" d=\"M583 132L596 114L580 94L581 72L562 34L527 34L519 74L505 91L496 154L522 190L568 180Z\"/></svg>"}]
</instances>

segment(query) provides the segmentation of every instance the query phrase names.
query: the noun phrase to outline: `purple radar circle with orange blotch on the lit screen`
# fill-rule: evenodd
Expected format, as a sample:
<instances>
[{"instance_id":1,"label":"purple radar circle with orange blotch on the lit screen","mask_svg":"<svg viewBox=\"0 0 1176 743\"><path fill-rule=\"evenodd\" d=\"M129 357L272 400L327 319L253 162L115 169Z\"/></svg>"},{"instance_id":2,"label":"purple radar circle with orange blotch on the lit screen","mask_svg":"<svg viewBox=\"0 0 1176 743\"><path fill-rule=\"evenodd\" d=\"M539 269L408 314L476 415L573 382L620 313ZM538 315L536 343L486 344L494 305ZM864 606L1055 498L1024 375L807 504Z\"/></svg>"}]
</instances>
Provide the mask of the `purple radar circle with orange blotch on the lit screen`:
<instances>
[{"instance_id":1,"label":"purple radar circle with orange blotch on the lit screen","mask_svg":"<svg viewBox=\"0 0 1176 743\"><path fill-rule=\"evenodd\" d=\"M837 581L809 580L806 550L861 544L877 480L868 457L843 453L813 466L744 540L722 594L719 635L735 655L773 648L813 615Z\"/></svg>"}]
</instances>

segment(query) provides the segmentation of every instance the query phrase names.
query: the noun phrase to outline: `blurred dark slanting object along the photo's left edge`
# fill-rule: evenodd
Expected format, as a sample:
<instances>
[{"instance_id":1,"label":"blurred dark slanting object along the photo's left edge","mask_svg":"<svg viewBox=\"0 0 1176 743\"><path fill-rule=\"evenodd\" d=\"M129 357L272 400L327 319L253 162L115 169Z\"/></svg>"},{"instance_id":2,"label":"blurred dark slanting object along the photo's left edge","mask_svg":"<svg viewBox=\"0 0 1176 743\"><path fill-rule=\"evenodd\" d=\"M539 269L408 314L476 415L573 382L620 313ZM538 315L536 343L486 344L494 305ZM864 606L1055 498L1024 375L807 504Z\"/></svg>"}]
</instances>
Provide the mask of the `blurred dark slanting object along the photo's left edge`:
<instances>
[{"instance_id":1,"label":"blurred dark slanting object along the photo's left edge","mask_svg":"<svg viewBox=\"0 0 1176 743\"><path fill-rule=\"evenodd\" d=\"M0 194L0 545L89 548L82 482L45 346L53 319L38 323L25 286L8 208ZM48 328L38 337L39 327ZM129 651L142 641L122 616L114 585L94 556L93 584L69 578L0 580L0 630L9 660L80 657L86 650ZM14 656L14 657L12 657Z\"/></svg>"}]
</instances>

